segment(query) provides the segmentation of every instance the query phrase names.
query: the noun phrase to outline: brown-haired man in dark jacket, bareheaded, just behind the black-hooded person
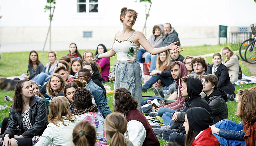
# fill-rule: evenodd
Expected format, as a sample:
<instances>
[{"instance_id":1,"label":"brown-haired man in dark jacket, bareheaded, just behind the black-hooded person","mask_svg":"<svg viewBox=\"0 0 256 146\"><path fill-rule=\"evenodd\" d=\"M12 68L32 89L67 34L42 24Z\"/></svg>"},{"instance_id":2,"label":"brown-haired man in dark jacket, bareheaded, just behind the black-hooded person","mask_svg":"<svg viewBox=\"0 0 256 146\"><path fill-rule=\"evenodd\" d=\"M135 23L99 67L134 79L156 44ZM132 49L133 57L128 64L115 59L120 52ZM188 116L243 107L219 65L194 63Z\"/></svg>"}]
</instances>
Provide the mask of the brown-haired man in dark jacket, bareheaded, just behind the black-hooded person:
<instances>
[{"instance_id":1,"label":"brown-haired man in dark jacket, bareheaded, just behind the black-hooded person","mask_svg":"<svg viewBox=\"0 0 256 146\"><path fill-rule=\"evenodd\" d=\"M206 94L203 97L213 113L214 124L220 120L227 119L227 94L225 91L217 88L218 78L213 74L202 75L203 92Z\"/></svg>"}]
</instances>

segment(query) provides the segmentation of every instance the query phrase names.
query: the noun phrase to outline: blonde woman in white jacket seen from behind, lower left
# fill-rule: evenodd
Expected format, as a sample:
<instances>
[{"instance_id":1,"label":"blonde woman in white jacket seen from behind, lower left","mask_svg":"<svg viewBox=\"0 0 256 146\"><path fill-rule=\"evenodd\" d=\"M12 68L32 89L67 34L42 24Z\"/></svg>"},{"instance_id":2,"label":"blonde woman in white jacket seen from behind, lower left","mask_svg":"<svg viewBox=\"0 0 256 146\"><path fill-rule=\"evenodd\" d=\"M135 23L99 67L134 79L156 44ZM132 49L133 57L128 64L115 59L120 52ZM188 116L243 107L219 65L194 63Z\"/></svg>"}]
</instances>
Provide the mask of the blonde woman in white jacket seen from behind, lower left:
<instances>
[{"instance_id":1,"label":"blonde woman in white jacket seen from behind, lower left","mask_svg":"<svg viewBox=\"0 0 256 146\"><path fill-rule=\"evenodd\" d=\"M80 118L70 113L69 101L64 96L52 99L48 115L49 124L35 146L74 145L72 133Z\"/></svg>"}]
</instances>

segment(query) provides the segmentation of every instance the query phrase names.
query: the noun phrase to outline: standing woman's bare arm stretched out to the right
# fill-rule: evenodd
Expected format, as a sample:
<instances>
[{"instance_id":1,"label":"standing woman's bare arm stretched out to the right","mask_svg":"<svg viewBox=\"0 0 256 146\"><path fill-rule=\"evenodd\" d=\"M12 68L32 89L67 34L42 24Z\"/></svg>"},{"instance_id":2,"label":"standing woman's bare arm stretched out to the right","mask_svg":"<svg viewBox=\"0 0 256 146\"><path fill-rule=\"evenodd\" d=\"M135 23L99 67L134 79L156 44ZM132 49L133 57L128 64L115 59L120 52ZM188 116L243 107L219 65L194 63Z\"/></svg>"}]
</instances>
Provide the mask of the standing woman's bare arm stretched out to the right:
<instances>
[{"instance_id":1,"label":"standing woman's bare arm stretched out to the right","mask_svg":"<svg viewBox=\"0 0 256 146\"><path fill-rule=\"evenodd\" d=\"M156 54L159 54L159 53L163 53L163 52L165 52L166 50L173 50L173 51L182 51L182 50L183 50L183 48L181 48L180 46L175 45L175 44L178 43L179 41L174 42L174 43L171 43L170 45L165 46L165 47L154 48L154 47L148 42L148 40L146 39L146 37L144 36L143 33L138 32L137 34L138 34L138 43L139 43L146 51L148 51L148 52L149 52L150 54L152 54L152 55L156 55Z\"/></svg>"}]
</instances>

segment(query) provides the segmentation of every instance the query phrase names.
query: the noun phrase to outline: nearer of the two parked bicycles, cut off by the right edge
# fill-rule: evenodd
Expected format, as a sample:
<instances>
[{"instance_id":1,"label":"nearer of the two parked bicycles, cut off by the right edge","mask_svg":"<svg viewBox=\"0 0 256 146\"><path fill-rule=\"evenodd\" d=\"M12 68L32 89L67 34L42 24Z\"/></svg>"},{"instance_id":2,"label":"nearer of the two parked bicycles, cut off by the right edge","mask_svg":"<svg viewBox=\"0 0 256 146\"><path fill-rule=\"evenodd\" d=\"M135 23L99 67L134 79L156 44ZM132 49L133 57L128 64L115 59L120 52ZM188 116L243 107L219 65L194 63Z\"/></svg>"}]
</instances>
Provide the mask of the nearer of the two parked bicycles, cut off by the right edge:
<instances>
[{"instance_id":1,"label":"nearer of the two parked bicycles, cut off by the right edge","mask_svg":"<svg viewBox=\"0 0 256 146\"><path fill-rule=\"evenodd\" d=\"M256 24L251 24L254 40L249 43L244 52L245 61L248 63L256 63Z\"/></svg>"}]
</instances>

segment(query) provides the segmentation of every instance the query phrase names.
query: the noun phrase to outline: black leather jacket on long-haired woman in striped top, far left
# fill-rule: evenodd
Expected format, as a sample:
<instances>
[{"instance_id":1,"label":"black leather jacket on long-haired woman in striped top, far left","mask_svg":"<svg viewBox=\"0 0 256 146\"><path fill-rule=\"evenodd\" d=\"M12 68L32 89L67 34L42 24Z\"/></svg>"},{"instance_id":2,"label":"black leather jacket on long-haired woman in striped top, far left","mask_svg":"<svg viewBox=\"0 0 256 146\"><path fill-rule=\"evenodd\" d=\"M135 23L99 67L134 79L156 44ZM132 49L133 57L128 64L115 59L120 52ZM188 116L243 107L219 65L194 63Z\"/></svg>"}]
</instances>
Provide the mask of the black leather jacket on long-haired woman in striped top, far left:
<instances>
[{"instance_id":1,"label":"black leather jacket on long-haired woman in striped top, far left","mask_svg":"<svg viewBox=\"0 0 256 146\"><path fill-rule=\"evenodd\" d=\"M44 132L47 121L47 110L43 98L36 95L31 97L29 120L32 127L22 133L23 137L33 137ZM22 112L17 112L12 105L10 107L9 120L4 135L9 134L9 137L12 138L15 134L15 130L21 132L22 129Z\"/></svg>"}]
</instances>

